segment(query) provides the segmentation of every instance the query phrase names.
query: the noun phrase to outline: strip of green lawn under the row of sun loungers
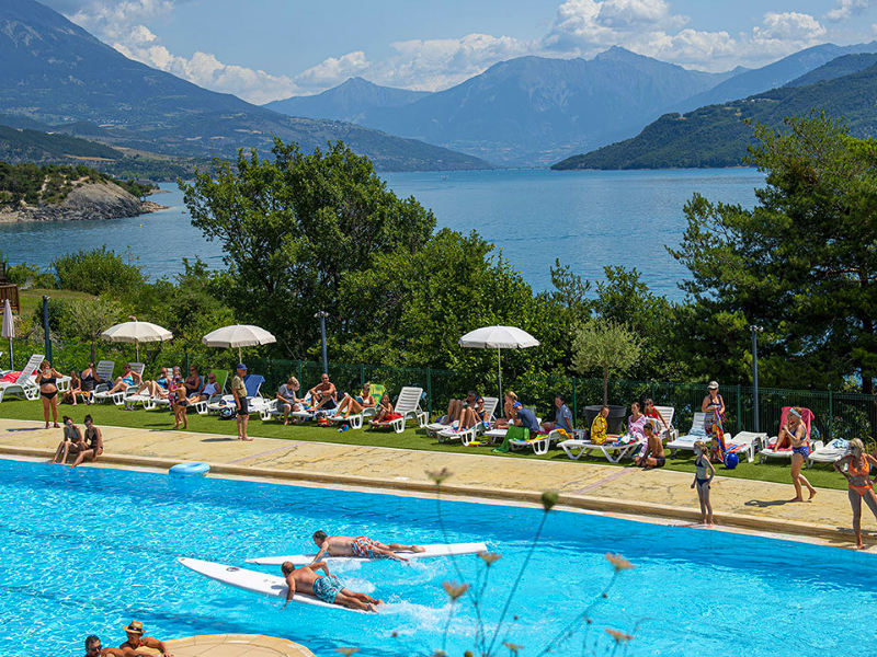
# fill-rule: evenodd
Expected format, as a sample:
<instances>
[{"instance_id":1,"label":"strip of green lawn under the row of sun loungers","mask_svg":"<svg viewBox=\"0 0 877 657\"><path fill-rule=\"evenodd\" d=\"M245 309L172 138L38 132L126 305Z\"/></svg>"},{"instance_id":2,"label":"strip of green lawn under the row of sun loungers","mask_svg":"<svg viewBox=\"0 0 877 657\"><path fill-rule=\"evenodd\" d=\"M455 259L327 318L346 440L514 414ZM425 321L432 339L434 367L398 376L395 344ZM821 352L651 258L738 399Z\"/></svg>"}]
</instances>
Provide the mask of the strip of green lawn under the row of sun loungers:
<instances>
[{"instance_id":1,"label":"strip of green lawn under the row of sun loungers","mask_svg":"<svg viewBox=\"0 0 877 657\"><path fill-rule=\"evenodd\" d=\"M125 411L122 406L112 404L100 404L94 406L68 406L58 407L58 415L69 415L77 424L82 423L87 413L91 413L98 425L110 425L118 427L136 427L145 429L172 429L173 416L168 411ZM43 419L43 408L38 402L7 397L0 403L0 417L11 419ZM409 425L411 426L411 425ZM215 415L190 414L189 430L207 434L224 434L234 436L237 434L236 423L220 420ZM402 434L394 431L364 431L349 430L339 433L337 427L318 427L312 424L301 426L283 426L277 420L262 422L258 415L250 416L250 436L261 438L280 438L285 440L312 440L317 442L334 442L341 445L364 445L369 447L395 447L402 449L418 449L436 452L459 452L459 453L480 453L492 454L490 447L464 447L459 442L444 443L435 438L426 436L423 429L409 428ZM566 453L560 450L551 450L549 453L537 457L531 451L513 452L503 456L511 459L547 459L556 461L568 461ZM584 457L579 462L600 463L606 465L606 460L602 454ZM626 461L620 466L633 466L630 461ZM691 453L680 454L675 460L667 462L668 470L679 472L691 472L694 474L694 457ZM722 465L717 468L721 476L734 476L764 482L778 482L789 485L789 494L793 494L791 480L789 477L788 462L778 460L768 461L764 464L747 463L742 461L734 470L726 470ZM831 465L817 465L806 470L805 474L810 483L822 488L845 489L846 481L835 473Z\"/></svg>"}]
</instances>

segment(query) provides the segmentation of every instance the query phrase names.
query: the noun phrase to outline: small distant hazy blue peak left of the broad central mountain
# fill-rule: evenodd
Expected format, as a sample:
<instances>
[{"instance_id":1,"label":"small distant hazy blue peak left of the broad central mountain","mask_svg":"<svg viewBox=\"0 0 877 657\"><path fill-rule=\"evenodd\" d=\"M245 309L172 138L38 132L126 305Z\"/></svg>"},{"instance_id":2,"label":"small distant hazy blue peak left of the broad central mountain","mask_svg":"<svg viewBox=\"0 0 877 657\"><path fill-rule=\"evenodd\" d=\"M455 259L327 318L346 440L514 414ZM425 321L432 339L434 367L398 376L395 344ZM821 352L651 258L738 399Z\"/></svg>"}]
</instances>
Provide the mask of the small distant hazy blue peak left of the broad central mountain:
<instances>
[{"instance_id":1,"label":"small distant hazy blue peak left of the broad central mountain","mask_svg":"<svg viewBox=\"0 0 877 657\"><path fill-rule=\"evenodd\" d=\"M272 101L262 106L288 116L361 123L368 111L399 107L428 95L430 95L428 91L380 87L362 78L350 78L338 87L316 95L293 96Z\"/></svg>"}]
</instances>

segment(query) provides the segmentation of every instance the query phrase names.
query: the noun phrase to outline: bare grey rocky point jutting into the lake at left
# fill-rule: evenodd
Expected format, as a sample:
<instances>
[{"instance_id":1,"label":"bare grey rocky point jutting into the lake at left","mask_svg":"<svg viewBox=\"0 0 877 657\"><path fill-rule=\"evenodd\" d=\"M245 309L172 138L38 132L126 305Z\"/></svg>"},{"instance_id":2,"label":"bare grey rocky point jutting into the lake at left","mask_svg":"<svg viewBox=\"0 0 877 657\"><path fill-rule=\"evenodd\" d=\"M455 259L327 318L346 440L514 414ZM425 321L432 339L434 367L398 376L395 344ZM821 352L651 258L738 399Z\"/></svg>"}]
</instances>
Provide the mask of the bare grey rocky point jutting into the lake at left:
<instances>
[{"instance_id":1,"label":"bare grey rocky point jutting into the lake at left","mask_svg":"<svg viewBox=\"0 0 877 657\"><path fill-rule=\"evenodd\" d=\"M39 204L0 208L0 223L22 221L100 221L137 217L164 206L140 200L112 183L89 183L75 188L58 205Z\"/></svg>"}]
</instances>

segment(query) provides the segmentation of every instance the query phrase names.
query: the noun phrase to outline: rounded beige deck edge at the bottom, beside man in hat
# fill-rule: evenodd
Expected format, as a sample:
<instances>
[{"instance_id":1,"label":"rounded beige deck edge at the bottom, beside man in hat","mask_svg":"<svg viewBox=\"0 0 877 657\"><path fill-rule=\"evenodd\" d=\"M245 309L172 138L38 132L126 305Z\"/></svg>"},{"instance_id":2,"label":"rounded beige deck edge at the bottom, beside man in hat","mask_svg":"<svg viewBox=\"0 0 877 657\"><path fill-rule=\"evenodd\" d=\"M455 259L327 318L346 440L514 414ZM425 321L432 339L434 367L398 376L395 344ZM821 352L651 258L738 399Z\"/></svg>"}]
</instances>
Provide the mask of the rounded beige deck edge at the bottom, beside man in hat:
<instances>
[{"instance_id":1,"label":"rounded beige deck edge at the bottom, beside man in hat","mask_svg":"<svg viewBox=\"0 0 877 657\"><path fill-rule=\"evenodd\" d=\"M205 634L166 642L174 657L315 657L314 653L285 638L261 634ZM137 648L159 655L152 648Z\"/></svg>"}]
</instances>

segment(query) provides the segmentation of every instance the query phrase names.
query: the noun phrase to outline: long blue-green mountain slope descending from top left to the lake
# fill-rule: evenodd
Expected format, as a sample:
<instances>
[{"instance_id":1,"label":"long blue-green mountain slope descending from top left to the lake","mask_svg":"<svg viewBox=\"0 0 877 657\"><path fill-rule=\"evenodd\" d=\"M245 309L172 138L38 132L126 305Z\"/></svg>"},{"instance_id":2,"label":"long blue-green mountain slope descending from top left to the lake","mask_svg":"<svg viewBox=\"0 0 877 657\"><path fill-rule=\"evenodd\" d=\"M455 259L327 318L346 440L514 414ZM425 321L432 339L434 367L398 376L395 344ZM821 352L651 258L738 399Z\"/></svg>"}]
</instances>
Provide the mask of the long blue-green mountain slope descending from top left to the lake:
<instances>
[{"instance_id":1,"label":"long blue-green mountain slope descending from top left to the lake","mask_svg":"<svg viewBox=\"0 0 877 657\"><path fill-rule=\"evenodd\" d=\"M127 59L34 0L0 3L0 113L48 126L88 122L101 141L184 157L269 150L274 136L303 149L343 139L385 171L489 168L444 148L362 126L283 116ZM24 126L29 127L29 126Z\"/></svg>"}]
</instances>

